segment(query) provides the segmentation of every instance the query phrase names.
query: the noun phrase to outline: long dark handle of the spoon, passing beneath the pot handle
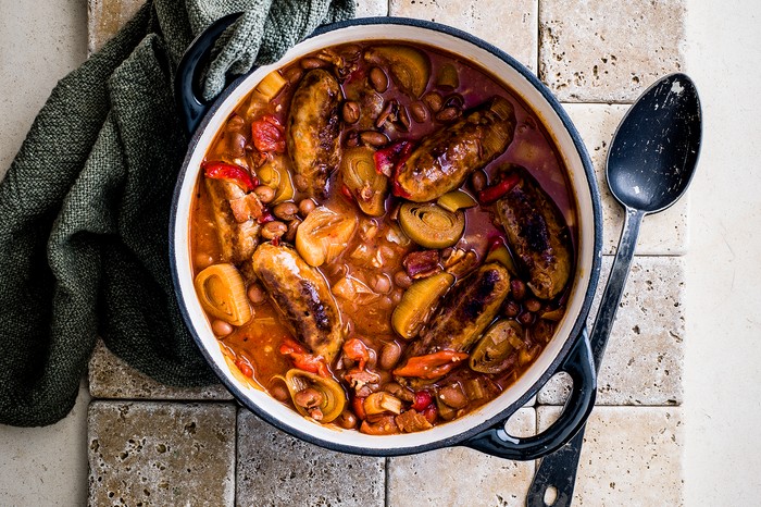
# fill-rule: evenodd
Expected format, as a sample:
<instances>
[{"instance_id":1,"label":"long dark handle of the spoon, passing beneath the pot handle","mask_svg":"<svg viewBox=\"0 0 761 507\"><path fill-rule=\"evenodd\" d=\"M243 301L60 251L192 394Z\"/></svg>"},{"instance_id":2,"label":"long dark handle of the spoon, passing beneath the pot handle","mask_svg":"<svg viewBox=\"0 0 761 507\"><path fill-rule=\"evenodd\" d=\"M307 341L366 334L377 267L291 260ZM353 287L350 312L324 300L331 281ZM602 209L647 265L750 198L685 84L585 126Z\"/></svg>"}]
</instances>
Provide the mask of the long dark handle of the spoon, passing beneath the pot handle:
<instances>
[{"instance_id":1,"label":"long dark handle of the spoon, passing beneath the pot handle","mask_svg":"<svg viewBox=\"0 0 761 507\"><path fill-rule=\"evenodd\" d=\"M621 240L589 338L595 368L598 373L606 346L608 345L608 336L610 336L610 330L615 321L615 312L619 309L621 296L624 294L626 277L634 260L637 236L639 236L639 225L643 223L644 217L644 211L626 208ZM586 424L582 426L571 442L541 460L526 495L526 505L528 507L546 507L548 505L552 507L567 507L571 505L576 483L576 471L578 470L578 458L582 454L582 444L584 444L585 429ZM556 498L551 504L547 504L545 494L550 489L556 490Z\"/></svg>"}]
</instances>

